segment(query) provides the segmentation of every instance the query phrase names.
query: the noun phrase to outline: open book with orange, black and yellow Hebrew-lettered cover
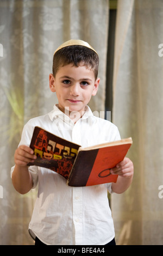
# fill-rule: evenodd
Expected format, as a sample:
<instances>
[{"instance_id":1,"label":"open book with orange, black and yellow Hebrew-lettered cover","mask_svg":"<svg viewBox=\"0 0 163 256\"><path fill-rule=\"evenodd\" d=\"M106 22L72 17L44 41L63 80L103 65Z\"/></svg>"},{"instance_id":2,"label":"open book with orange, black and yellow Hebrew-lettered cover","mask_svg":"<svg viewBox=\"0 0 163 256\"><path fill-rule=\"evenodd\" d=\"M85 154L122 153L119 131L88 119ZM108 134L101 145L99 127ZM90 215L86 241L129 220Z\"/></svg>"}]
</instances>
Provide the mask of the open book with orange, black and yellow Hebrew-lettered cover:
<instances>
[{"instance_id":1,"label":"open book with orange, black and yellow Hebrew-lettered cover","mask_svg":"<svg viewBox=\"0 0 163 256\"><path fill-rule=\"evenodd\" d=\"M126 156L132 139L121 139L82 148L80 145L35 127L30 148L37 159L28 165L49 168L67 180L69 186L92 186L116 182L110 169Z\"/></svg>"}]
</instances>

